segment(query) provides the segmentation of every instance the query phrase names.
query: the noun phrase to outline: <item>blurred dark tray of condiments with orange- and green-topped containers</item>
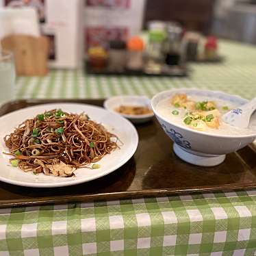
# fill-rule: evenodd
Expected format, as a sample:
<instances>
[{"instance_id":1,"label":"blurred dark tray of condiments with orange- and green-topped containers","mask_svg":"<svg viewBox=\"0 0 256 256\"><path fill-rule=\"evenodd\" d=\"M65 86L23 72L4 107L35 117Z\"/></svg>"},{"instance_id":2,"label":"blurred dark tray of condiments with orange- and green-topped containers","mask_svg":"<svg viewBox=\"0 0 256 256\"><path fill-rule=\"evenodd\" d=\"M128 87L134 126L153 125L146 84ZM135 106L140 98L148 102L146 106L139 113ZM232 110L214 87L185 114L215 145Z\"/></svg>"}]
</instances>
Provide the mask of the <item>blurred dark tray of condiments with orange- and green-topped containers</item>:
<instances>
[{"instance_id":1,"label":"blurred dark tray of condiments with orange- and green-topped containers","mask_svg":"<svg viewBox=\"0 0 256 256\"><path fill-rule=\"evenodd\" d=\"M110 40L107 49L89 47L86 71L98 75L185 76L182 31L178 23L153 21L146 36Z\"/></svg>"}]
</instances>

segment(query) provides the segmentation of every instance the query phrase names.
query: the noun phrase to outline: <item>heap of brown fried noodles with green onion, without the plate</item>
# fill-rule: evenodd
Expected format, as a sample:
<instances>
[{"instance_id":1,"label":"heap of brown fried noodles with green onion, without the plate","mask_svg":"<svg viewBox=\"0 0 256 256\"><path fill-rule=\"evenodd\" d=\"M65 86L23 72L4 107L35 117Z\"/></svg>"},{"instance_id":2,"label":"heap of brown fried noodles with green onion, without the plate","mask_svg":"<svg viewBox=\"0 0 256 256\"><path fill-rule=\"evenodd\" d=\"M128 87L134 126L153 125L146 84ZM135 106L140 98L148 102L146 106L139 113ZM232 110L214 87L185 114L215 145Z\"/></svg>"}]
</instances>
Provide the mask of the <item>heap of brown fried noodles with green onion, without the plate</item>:
<instances>
[{"instance_id":1,"label":"heap of brown fried noodles with green onion, without the plate","mask_svg":"<svg viewBox=\"0 0 256 256\"><path fill-rule=\"evenodd\" d=\"M71 176L118 148L118 138L84 113L51 110L27 119L4 138L18 167L35 174ZM59 168L56 168L59 167Z\"/></svg>"}]
</instances>

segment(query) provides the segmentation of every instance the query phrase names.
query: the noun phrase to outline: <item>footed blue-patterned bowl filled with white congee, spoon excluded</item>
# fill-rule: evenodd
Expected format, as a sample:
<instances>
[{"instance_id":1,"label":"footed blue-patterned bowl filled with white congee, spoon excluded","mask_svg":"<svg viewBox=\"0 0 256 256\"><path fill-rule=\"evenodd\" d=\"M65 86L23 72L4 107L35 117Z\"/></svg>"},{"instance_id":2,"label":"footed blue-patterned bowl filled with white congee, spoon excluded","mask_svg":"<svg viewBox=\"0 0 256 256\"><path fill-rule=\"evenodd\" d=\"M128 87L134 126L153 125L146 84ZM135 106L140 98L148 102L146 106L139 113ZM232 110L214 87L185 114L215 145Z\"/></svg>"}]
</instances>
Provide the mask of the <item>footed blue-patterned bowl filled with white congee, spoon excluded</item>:
<instances>
[{"instance_id":1,"label":"footed blue-patterned bowl filled with white congee, spoon excluded","mask_svg":"<svg viewBox=\"0 0 256 256\"><path fill-rule=\"evenodd\" d=\"M180 88L159 92L151 106L178 157L190 164L216 166L256 138L256 113L247 128L229 125L222 116L248 100L225 92Z\"/></svg>"}]
</instances>

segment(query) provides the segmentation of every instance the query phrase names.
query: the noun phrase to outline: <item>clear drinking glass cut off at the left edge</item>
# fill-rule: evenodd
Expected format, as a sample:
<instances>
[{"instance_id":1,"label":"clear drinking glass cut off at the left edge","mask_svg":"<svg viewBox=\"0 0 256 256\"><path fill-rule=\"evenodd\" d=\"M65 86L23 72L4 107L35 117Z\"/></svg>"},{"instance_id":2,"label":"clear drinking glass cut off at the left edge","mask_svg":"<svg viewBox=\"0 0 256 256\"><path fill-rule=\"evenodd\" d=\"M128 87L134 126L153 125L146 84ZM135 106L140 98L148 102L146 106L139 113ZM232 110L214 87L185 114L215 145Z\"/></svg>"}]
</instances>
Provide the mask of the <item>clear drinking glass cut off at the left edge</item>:
<instances>
[{"instance_id":1,"label":"clear drinking glass cut off at the left edge","mask_svg":"<svg viewBox=\"0 0 256 256\"><path fill-rule=\"evenodd\" d=\"M14 99L15 65L10 51L0 49L0 104Z\"/></svg>"}]
</instances>

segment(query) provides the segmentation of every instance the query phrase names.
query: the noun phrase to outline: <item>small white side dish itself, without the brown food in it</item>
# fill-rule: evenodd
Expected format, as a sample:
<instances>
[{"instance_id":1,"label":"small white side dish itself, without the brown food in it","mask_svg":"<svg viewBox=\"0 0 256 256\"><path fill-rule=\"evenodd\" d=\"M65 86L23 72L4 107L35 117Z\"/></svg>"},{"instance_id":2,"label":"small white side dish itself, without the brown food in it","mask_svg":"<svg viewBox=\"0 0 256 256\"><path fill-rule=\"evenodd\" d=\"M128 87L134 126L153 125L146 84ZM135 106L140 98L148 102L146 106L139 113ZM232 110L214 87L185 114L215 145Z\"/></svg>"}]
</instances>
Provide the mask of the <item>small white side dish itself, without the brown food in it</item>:
<instances>
[{"instance_id":1,"label":"small white side dish itself, without the brown food in it","mask_svg":"<svg viewBox=\"0 0 256 256\"><path fill-rule=\"evenodd\" d=\"M120 105L143 106L143 107L149 107L149 109L151 110L151 101L148 97L145 97L145 96L121 95L121 96L110 97L109 99L105 100L103 103L103 106L105 107L106 110L109 110L110 112L114 112L114 113L118 113L116 112L115 109L116 107L120 107ZM148 122L154 116L153 112L152 114L142 114L142 115L127 115L127 114L120 114L120 115L129 119L131 123L134 123L134 124Z\"/></svg>"}]
</instances>

